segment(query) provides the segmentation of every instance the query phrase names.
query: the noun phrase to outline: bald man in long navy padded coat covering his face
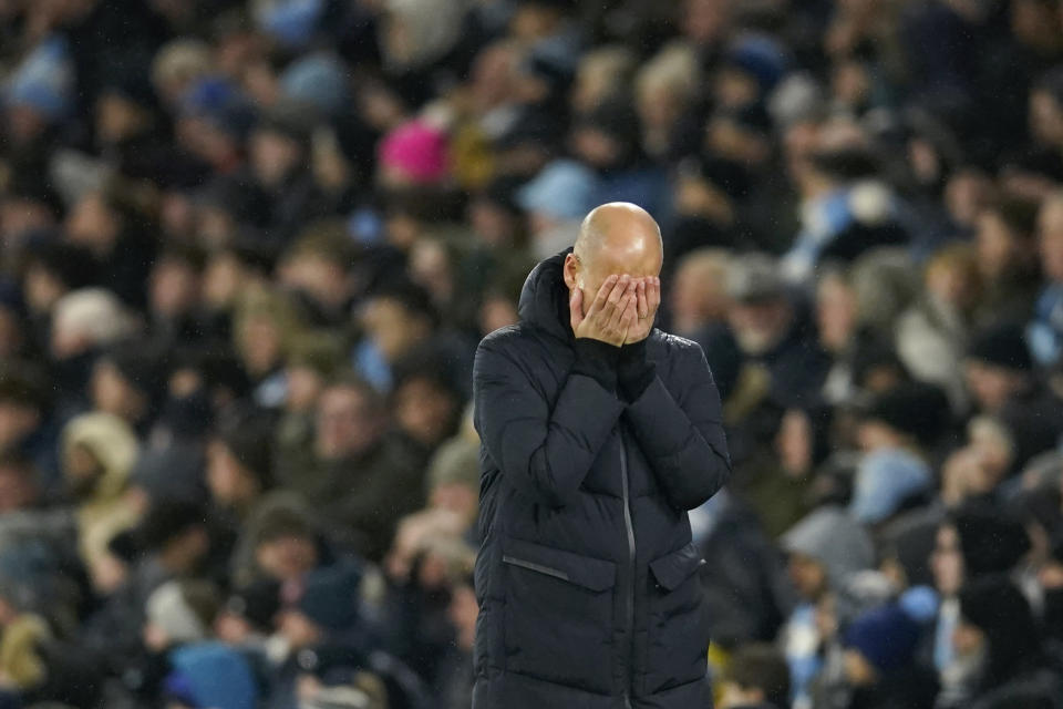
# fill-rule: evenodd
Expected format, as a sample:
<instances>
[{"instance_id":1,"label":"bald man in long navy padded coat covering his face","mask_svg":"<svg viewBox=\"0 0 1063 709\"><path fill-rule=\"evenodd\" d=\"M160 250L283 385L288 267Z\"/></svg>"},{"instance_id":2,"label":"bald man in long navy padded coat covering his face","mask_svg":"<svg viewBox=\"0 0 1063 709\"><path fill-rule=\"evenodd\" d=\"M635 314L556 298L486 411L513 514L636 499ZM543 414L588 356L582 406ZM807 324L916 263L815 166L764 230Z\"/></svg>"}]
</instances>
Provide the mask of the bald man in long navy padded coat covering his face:
<instances>
[{"instance_id":1,"label":"bald man in long navy padded coat covering his face","mask_svg":"<svg viewBox=\"0 0 1063 709\"><path fill-rule=\"evenodd\" d=\"M731 471L694 342L653 328L661 234L591 212L479 345L474 709L710 707L688 511Z\"/></svg>"}]
</instances>

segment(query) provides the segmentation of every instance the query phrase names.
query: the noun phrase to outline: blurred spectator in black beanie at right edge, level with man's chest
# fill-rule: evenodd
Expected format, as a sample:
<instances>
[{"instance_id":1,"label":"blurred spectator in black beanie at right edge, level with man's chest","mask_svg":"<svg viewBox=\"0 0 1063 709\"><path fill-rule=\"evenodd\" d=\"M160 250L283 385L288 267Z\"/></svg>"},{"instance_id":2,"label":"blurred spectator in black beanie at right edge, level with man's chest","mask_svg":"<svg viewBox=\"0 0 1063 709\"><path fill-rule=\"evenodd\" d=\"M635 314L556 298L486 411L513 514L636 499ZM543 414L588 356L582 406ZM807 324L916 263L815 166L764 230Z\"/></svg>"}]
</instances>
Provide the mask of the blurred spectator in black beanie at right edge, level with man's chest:
<instances>
[{"instance_id":1,"label":"blurred spectator in black beanie at right edge, level with man's chest","mask_svg":"<svg viewBox=\"0 0 1063 709\"><path fill-rule=\"evenodd\" d=\"M1004 322L976 332L964 373L978 410L994 415L1011 433L1016 466L1055 448L1063 404L1038 386L1021 326Z\"/></svg>"}]
</instances>

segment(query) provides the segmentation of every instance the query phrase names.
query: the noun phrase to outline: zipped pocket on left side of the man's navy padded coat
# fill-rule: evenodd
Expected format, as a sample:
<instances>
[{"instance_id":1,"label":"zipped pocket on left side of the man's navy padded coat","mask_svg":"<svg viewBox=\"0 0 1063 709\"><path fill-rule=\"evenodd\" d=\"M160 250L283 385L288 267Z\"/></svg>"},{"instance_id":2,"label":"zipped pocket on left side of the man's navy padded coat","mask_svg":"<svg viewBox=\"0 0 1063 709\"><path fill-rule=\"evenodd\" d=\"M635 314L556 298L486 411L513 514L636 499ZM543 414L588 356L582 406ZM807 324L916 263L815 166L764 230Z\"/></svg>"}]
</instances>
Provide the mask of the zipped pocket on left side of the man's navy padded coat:
<instances>
[{"instance_id":1,"label":"zipped pocket on left side of the man's navy padded coat","mask_svg":"<svg viewBox=\"0 0 1063 709\"><path fill-rule=\"evenodd\" d=\"M617 565L503 542L506 669L588 691L612 689Z\"/></svg>"}]
</instances>

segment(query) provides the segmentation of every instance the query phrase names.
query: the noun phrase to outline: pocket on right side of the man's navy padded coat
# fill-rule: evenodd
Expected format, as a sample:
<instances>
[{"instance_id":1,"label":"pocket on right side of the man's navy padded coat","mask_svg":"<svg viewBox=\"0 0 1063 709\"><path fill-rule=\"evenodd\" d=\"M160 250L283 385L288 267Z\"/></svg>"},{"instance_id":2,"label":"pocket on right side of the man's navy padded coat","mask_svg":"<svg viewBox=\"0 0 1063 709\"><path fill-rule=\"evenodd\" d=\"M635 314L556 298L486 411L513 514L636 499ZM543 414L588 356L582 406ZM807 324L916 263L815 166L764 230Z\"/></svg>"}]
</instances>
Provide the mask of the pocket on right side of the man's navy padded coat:
<instances>
[{"instance_id":1,"label":"pocket on right side of the man's navy padded coat","mask_svg":"<svg viewBox=\"0 0 1063 709\"><path fill-rule=\"evenodd\" d=\"M693 542L650 562L644 691L656 693L704 677L709 653L704 564Z\"/></svg>"}]
</instances>

